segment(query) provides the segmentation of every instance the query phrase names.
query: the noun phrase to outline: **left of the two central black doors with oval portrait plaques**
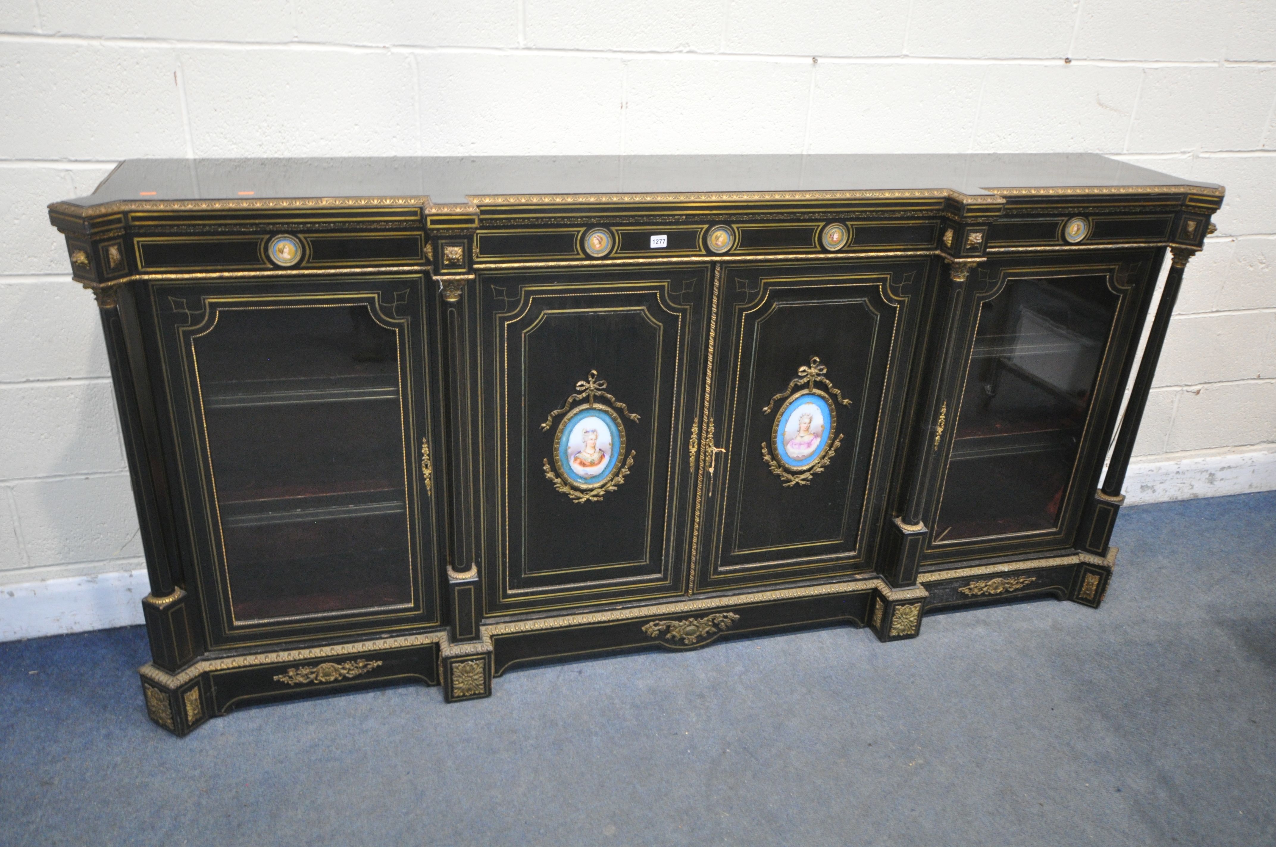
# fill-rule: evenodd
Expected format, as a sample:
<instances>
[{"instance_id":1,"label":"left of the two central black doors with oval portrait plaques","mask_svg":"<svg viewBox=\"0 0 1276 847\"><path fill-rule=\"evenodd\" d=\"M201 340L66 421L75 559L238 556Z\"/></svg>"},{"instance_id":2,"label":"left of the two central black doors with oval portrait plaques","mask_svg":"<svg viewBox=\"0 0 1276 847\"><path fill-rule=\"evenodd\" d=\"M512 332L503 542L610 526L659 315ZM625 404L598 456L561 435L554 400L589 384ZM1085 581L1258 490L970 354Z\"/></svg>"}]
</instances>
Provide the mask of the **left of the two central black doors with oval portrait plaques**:
<instances>
[{"instance_id":1,"label":"left of the two central black doors with oval portrait plaques","mask_svg":"<svg viewBox=\"0 0 1276 847\"><path fill-rule=\"evenodd\" d=\"M708 292L704 265L480 274L485 614L685 591Z\"/></svg>"}]
</instances>

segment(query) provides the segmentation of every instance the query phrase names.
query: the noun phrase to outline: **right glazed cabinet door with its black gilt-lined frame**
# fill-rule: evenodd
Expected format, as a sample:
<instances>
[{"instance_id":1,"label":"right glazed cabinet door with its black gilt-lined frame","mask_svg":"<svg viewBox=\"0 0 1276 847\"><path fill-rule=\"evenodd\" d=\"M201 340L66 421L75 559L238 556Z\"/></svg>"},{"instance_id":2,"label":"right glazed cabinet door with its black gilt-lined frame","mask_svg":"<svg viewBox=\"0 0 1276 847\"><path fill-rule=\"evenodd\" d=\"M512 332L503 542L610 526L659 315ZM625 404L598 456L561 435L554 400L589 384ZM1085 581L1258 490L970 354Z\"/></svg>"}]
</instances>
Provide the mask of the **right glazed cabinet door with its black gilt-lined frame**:
<instances>
[{"instance_id":1,"label":"right glazed cabinet door with its black gilt-lined frame","mask_svg":"<svg viewBox=\"0 0 1276 847\"><path fill-rule=\"evenodd\" d=\"M1155 256L983 268L949 356L928 560L1071 543Z\"/></svg>"}]
</instances>

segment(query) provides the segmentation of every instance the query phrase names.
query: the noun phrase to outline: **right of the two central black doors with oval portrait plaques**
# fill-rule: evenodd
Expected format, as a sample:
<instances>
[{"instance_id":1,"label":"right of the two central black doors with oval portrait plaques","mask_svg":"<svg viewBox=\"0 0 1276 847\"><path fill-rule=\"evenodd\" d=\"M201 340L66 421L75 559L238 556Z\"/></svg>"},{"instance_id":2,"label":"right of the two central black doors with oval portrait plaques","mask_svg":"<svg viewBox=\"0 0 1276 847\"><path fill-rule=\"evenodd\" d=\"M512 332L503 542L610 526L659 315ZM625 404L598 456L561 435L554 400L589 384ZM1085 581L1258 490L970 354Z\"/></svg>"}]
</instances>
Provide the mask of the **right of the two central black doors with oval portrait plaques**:
<instances>
[{"instance_id":1,"label":"right of the two central black doors with oval portrait plaques","mask_svg":"<svg viewBox=\"0 0 1276 847\"><path fill-rule=\"evenodd\" d=\"M698 588L872 566L929 267L726 267Z\"/></svg>"}]
</instances>

